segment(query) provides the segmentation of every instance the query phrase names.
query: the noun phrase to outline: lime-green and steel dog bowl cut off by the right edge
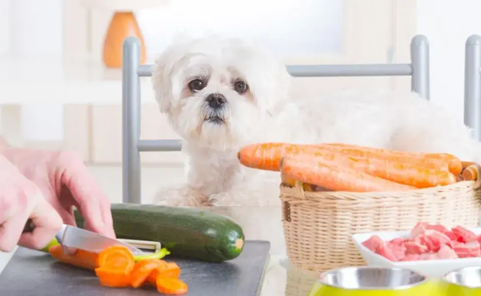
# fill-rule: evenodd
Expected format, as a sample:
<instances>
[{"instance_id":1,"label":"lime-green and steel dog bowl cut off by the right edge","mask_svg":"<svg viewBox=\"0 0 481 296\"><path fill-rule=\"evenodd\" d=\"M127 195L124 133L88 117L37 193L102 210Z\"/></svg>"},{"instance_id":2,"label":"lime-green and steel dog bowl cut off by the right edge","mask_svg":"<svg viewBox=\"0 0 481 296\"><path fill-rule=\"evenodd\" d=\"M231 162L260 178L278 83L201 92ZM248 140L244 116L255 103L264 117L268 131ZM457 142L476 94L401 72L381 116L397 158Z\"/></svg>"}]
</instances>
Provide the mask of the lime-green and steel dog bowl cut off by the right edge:
<instances>
[{"instance_id":1,"label":"lime-green and steel dog bowl cut off by the right edge","mask_svg":"<svg viewBox=\"0 0 481 296\"><path fill-rule=\"evenodd\" d=\"M440 285L445 296L480 296L481 266L451 271L442 278Z\"/></svg>"}]
</instances>

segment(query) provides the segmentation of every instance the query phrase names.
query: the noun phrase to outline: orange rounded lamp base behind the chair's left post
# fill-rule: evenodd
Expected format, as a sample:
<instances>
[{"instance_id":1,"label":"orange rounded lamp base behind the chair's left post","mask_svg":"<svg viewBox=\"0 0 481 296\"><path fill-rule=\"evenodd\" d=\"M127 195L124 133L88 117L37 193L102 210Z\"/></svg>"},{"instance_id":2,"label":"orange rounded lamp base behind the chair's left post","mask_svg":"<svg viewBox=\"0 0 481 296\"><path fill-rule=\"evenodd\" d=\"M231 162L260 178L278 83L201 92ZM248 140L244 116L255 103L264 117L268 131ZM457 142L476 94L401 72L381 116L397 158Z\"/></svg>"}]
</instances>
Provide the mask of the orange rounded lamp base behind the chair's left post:
<instances>
[{"instance_id":1,"label":"orange rounded lamp base behind the chair's left post","mask_svg":"<svg viewBox=\"0 0 481 296\"><path fill-rule=\"evenodd\" d=\"M140 41L140 63L145 63L145 44L133 12L115 12L103 42L103 63L108 68L122 68L122 43L129 36Z\"/></svg>"}]
</instances>

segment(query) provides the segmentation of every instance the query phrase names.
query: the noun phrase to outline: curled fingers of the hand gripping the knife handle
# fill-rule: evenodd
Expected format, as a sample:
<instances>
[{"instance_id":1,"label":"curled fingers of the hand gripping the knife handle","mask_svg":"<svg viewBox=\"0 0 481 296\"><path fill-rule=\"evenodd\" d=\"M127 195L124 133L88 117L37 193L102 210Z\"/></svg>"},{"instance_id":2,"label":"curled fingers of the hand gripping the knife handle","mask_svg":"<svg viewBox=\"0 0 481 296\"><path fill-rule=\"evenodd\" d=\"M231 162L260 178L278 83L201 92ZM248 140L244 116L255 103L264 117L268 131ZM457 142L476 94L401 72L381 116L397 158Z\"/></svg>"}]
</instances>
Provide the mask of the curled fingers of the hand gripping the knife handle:
<instances>
[{"instance_id":1,"label":"curled fingers of the hand gripping the knife handle","mask_svg":"<svg viewBox=\"0 0 481 296\"><path fill-rule=\"evenodd\" d=\"M63 223L57 211L44 200L35 204L30 219L35 224L34 231L23 233L18 241L19 245L30 249L45 247L55 237ZM23 229L22 224L21 226Z\"/></svg>"}]
</instances>

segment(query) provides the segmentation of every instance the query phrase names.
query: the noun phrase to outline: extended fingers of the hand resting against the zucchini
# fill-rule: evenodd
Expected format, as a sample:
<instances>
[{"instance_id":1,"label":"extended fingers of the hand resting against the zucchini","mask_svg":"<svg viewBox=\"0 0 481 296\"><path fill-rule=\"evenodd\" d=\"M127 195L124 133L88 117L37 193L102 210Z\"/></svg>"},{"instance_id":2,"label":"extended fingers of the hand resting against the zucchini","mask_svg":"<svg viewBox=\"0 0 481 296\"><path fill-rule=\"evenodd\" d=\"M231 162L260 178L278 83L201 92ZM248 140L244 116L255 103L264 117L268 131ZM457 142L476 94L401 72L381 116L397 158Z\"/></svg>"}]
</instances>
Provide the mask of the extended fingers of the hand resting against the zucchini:
<instances>
[{"instance_id":1,"label":"extended fingers of the hand resting against the zucchini","mask_svg":"<svg viewBox=\"0 0 481 296\"><path fill-rule=\"evenodd\" d=\"M73 154L65 154L59 163L64 173L61 182L78 204L77 209L85 218L85 228L114 238L110 201L90 175L83 162Z\"/></svg>"}]
</instances>

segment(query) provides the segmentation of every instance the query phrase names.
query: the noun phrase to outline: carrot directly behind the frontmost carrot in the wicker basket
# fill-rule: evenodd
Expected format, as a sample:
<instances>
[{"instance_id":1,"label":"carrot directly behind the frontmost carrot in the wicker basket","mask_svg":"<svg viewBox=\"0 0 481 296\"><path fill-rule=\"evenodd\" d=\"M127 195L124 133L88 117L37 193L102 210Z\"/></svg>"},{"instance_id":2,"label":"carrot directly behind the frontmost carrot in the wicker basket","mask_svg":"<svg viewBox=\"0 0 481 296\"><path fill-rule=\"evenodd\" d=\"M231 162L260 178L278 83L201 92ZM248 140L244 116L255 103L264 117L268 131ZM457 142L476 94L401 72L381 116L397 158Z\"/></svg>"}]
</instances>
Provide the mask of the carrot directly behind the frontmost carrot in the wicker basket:
<instances>
[{"instance_id":1,"label":"carrot directly behind the frontmost carrot in the wicker basket","mask_svg":"<svg viewBox=\"0 0 481 296\"><path fill-rule=\"evenodd\" d=\"M317 156L314 159L315 161L326 161ZM363 157L342 157L338 158L337 162L356 171L417 188L456 183L456 176L450 172L426 169L410 163Z\"/></svg>"}]
</instances>

